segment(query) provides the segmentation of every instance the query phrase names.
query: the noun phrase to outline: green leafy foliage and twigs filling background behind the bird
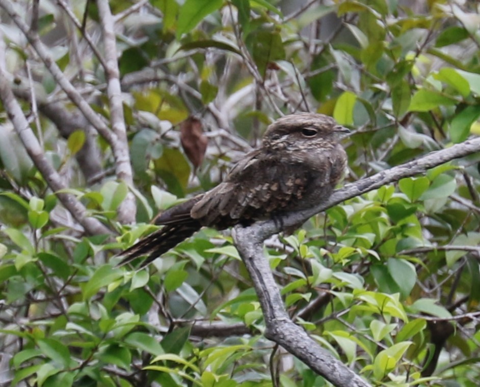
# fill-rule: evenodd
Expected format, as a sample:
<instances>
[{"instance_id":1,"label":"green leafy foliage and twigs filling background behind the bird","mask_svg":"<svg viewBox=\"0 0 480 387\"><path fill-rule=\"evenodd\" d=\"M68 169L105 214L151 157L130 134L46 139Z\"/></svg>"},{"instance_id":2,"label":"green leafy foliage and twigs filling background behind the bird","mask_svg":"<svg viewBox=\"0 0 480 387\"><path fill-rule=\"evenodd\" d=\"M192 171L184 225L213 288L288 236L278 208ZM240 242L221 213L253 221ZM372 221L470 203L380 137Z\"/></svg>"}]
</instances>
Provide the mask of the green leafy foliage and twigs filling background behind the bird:
<instances>
[{"instance_id":1,"label":"green leafy foliage and twigs filling background behind the bird","mask_svg":"<svg viewBox=\"0 0 480 387\"><path fill-rule=\"evenodd\" d=\"M72 100L7 3L2 76L43 162L84 218L119 236L85 232L66 210L4 102L0 382L327 385L263 338L228 232L203 229L147 270L118 269L112 256L157 211L215 186L281 113L318 111L353 130L346 181L477 135L476 2L12 2L111 132ZM371 384L477 385L478 159L371 191L266 243L292 318Z\"/></svg>"}]
</instances>

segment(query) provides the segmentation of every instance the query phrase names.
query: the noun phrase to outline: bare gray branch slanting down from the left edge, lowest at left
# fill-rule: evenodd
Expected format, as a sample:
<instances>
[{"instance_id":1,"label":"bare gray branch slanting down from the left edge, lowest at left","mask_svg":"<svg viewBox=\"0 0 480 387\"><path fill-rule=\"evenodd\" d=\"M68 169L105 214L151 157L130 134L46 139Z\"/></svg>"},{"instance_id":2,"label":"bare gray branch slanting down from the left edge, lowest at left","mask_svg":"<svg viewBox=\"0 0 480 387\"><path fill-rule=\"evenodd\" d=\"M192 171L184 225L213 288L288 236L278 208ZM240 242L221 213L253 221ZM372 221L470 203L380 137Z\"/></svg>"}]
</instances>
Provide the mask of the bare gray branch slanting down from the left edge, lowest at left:
<instances>
[{"instance_id":1,"label":"bare gray branch slanting down from the left edge, lowest at left","mask_svg":"<svg viewBox=\"0 0 480 387\"><path fill-rule=\"evenodd\" d=\"M42 173L48 186L56 193L62 204L68 209L72 216L80 223L85 230L92 235L95 234L110 234L111 231L106 228L100 221L95 218L87 216L85 206L79 202L75 196L69 193L60 192L67 187L62 181L59 173L48 163L45 154L38 142L37 137L33 133L28 121L26 120L20 105L18 104L12 89L9 86L8 79L5 72L0 68L0 99L7 111L7 114L12 121L13 126L20 137L20 140Z\"/></svg>"}]
</instances>

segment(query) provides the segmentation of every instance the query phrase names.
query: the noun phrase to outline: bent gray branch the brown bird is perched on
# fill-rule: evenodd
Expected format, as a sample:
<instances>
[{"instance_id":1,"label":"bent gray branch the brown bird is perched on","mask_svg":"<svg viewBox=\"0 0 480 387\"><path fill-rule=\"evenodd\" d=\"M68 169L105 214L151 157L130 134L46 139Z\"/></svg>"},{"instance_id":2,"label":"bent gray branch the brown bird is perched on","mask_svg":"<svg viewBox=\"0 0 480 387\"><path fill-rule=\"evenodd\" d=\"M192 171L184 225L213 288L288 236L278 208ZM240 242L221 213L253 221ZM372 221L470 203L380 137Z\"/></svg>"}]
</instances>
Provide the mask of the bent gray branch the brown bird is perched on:
<instances>
[{"instance_id":1,"label":"bent gray branch the brown bird is perched on","mask_svg":"<svg viewBox=\"0 0 480 387\"><path fill-rule=\"evenodd\" d=\"M367 386L368 383L335 359L289 318L268 261L263 255L263 241L281 229L299 224L346 199L476 152L480 152L480 137L362 178L335 191L328 200L313 209L287 214L281 222L277 219L257 222L249 227L235 226L235 246L245 262L260 301L266 326L265 337L284 347L338 387Z\"/></svg>"}]
</instances>

